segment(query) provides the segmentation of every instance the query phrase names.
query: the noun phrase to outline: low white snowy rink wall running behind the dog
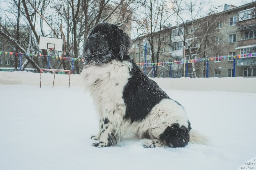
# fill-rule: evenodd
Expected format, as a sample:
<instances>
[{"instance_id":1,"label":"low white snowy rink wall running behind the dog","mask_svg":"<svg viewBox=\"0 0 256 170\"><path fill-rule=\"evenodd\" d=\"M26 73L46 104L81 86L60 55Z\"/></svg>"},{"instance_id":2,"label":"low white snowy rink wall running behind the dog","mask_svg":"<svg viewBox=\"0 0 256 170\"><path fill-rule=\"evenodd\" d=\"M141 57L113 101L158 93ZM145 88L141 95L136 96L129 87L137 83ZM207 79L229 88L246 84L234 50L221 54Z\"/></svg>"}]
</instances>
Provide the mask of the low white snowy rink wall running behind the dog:
<instances>
[{"instance_id":1,"label":"low white snowy rink wall running behind the dog","mask_svg":"<svg viewBox=\"0 0 256 170\"><path fill-rule=\"evenodd\" d=\"M42 86L52 86L54 74L42 74ZM54 86L68 86L67 74L56 74ZM152 78L164 89L230 91L256 93L256 78ZM31 72L0 72L0 84L22 84L39 86L40 74ZM70 86L83 86L77 74L71 75Z\"/></svg>"}]
</instances>

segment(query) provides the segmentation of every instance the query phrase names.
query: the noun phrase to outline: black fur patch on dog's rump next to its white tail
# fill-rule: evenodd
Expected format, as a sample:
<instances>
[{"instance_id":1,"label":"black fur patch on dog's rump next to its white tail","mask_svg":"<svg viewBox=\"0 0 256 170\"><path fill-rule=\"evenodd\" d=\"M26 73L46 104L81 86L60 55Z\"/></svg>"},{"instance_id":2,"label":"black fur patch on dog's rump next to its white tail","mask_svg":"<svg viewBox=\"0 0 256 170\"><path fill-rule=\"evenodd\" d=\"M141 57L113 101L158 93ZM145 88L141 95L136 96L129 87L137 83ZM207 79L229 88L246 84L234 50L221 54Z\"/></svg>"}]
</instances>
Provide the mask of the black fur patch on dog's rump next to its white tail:
<instances>
[{"instance_id":1,"label":"black fur patch on dog's rump next to its white tail","mask_svg":"<svg viewBox=\"0 0 256 170\"><path fill-rule=\"evenodd\" d=\"M159 136L159 139L165 142L169 147L184 147L189 142L189 127L180 126L179 124L172 124L167 127L163 133Z\"/></svg>"}]
</instances>

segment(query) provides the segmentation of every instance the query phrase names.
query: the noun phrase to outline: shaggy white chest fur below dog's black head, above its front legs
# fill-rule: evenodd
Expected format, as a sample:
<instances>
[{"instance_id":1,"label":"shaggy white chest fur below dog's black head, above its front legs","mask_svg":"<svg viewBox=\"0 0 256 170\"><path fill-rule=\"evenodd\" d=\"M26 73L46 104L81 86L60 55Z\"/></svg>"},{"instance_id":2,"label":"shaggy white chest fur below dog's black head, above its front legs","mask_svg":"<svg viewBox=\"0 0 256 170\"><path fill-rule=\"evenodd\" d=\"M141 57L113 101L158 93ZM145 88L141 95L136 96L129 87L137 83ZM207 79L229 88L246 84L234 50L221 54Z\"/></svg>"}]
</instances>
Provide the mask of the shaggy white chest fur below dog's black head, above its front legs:
<instances>
[{"instance_id":1,"label":"shaggy white chest fur below dog's black head, above its front legs","mask_svg":"<svg viewBox=\"0 0 256 170\"><path fill-rule=\"evenodd\" d=\"M112 60L103 66L84 68L82 76L85 87L91 92L100 114L124 104L123 90L130 77L131 67L130 62Z\"/></svg>"}]
</instances>

